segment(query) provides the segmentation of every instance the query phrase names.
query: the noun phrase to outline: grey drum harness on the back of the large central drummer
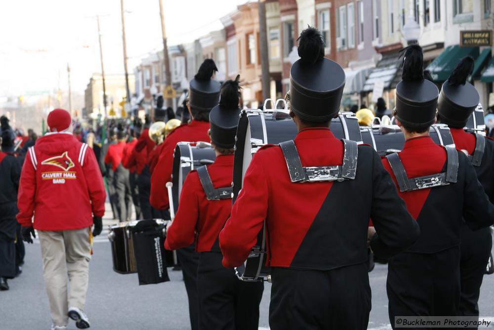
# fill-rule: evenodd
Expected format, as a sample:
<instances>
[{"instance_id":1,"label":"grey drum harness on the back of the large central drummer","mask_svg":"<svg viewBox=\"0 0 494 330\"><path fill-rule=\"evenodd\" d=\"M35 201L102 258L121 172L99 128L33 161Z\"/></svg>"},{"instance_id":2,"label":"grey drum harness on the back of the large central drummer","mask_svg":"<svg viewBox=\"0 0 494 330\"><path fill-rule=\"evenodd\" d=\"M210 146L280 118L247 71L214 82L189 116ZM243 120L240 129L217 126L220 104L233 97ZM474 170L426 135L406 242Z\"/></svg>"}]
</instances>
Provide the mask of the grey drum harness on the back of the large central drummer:
<instances>
[{"instance_id":1,"label":"grey drum harness on the back of the large central drummer","mask_svg":"<svg viewBox=\"0 0 494 330\"><path fill-rule=\"evenodd\" d=\"M281 142L279 145L287 162L291 182L320 182L354 180L357 172L358 146L351 140L343 141L343 165L303 167L295 142Z\"/></svg>"}]
</instances>

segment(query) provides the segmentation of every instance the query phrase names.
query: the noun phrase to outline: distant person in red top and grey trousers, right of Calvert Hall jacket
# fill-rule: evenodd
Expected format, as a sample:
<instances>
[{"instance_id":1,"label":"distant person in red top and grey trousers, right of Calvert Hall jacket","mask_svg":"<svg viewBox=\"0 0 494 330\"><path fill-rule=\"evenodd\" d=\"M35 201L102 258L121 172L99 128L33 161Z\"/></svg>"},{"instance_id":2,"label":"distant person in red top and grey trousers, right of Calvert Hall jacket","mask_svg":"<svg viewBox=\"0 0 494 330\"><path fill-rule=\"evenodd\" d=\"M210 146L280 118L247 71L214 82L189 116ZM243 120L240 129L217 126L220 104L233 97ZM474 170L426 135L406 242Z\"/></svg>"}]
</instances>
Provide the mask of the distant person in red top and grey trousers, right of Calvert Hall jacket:
<instances>
[{"instance_id":1,"label":"distant person in red top and grey trousers, right of Calvert Hall jacket","mask_svg":"<svg viewBox=\"0 0 494 330\"><path fill-rule=\"evenodd\" d=\"M105 156L105 164L110 165L115 173L114 187L117 194L117 211L120 222L128 221L132 210L129 171L122 166L126 140L127 135L124 128L119 124L117 127L118 143L110 145Z\"/></svg>"}]
</instances>

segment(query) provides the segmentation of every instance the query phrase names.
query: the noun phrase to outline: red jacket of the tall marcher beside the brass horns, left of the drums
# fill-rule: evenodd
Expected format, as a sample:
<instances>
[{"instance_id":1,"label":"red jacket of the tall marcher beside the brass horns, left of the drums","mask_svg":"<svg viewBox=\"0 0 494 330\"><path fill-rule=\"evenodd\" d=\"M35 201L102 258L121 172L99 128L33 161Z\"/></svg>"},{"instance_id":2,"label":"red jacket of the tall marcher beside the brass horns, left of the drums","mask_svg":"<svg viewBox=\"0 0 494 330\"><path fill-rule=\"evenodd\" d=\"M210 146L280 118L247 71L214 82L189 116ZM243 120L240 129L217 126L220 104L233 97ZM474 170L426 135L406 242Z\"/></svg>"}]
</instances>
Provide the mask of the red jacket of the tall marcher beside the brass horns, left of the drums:
<instances>
[{"instance_id":1,"label":"red jacket of the tall marcher beside the brass horns, left of the drums","mask_svg":"<svg viewBox=\"0 0 494 330\"><path fill-rule=\"evenodd\" d=\"M174 129L161 145L161 154L153 174L151 175L151 206L158 210L167 210L168 190L166 183L171 182L173 170L173 153L178 142L210 141L207 135L209 122L193 120L188 125L182 125Z\"/></svg>"}]
</instances>

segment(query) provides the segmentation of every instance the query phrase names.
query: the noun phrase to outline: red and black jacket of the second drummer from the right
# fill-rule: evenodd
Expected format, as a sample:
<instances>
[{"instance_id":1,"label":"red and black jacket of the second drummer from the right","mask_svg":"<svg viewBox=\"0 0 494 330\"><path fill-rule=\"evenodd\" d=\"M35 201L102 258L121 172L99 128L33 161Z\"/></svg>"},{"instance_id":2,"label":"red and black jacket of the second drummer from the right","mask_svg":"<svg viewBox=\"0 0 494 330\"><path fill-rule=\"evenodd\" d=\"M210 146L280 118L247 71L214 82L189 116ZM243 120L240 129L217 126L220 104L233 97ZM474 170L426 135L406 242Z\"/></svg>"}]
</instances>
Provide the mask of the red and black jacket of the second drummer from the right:
<instances>
[{"instance_id":1,"label":"red and black jacket of the second drummer from the right","mask_svg":"<svg viewBox=\"0 0 494 330\"><path fill-rule=\"evenodd\" d=\"M446 171L446 150L429 136L408 139L398 155L409 178ZM382 162L397 184L388 160L383 158ZM420 226L420 238L409 252L435 253L458 246L462 216L473 230L494 223L494 205L489 202L473 166L461 151L458 162L457 183L400 192Z\"/></svg>"}]
</instances>

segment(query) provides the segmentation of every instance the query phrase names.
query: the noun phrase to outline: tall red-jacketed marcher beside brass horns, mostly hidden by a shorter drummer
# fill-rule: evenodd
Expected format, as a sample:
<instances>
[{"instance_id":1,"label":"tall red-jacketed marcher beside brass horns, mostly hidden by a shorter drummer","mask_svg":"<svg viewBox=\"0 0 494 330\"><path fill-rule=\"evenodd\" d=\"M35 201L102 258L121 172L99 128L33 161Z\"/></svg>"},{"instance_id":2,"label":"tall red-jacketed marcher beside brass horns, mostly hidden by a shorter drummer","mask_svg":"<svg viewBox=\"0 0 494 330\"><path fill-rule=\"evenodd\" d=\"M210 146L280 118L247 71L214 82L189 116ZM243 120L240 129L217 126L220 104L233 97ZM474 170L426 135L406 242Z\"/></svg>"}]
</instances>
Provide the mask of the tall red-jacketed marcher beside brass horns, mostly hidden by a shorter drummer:
<instances>
[{"instance_id":1,"label":"tall red-jacketed marcher beside brass horns, mostly hidden by a shorter drummer","mask_svg":"<svg viewBox=\"0 0 494 330\"><path fill-rule=\"evenodd\" d=\"M167 210L168 191L166 183L171 181L173 153L181 141L209 141L209 111L218 104L221 84L211 79L218 71L212 59L206 59L194 79L190 81L189 112L192 121L188 125L177 127L170 133L161 147L161 155L151 176L151 206ZM194 244L177 250L177 257L182 266L185 288L189 298L189 313L192 330L198 329L197 300L197 265L199 256Z\"/></svg>"}]
</instances>

